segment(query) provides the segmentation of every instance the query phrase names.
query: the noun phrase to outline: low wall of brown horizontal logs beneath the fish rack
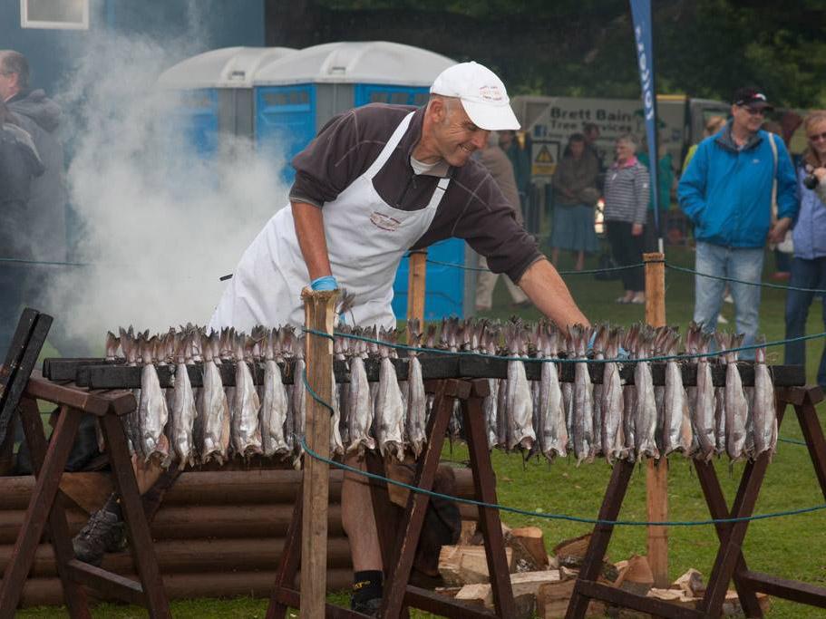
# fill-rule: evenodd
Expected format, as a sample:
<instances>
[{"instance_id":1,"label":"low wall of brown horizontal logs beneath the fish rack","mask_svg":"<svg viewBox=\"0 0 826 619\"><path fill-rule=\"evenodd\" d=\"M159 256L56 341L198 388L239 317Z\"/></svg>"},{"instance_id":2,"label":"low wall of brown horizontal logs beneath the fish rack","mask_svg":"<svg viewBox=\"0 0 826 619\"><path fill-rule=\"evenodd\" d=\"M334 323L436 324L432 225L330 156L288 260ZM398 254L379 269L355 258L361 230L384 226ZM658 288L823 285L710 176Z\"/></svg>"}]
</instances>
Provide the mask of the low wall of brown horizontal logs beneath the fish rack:
<instances>
[{"instance_id":1,"label":"low wall of brown horizontal logs beneath the fish rack","mask_svg":"<svg viewBox=\"0 0 826 619\"><path fill-rule=\"evenodd\" d=\"M470 469L455 469L457 495L473 493ZM67 517L74 535L111 491L106 473L66 473ZM188 471L167 491L151 523L160 572L170 599L267 597L292 517L301 472L293 469ZM352 584L350 546L341 525L341 471L330 473L327 586ZM0 477L0 573L12 555L34 478ZM82 508L81 506L84 506ZM462 506L462 517L475 508ZM131 554L108 554L102 567L134 577ZM297 581L296 581L297 585ZM94 595L94 592L90 590ZM21 606L63 604L52 546L38 547Z\"/></svg>"}]
</instances>

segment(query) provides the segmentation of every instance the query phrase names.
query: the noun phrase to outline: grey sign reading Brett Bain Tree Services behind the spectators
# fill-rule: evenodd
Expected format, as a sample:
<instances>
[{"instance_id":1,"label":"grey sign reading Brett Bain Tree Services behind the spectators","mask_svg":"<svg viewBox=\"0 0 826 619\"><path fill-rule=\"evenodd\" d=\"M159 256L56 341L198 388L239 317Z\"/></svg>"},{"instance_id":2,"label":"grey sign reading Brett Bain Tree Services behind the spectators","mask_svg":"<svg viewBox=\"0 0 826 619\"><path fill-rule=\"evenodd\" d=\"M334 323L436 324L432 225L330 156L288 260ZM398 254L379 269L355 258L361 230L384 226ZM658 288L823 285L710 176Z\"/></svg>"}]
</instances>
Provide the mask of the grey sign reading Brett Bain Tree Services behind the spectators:
<instances>
[{"instance_id":1,"label":"grey sign reading Brett Bain Tree Services behind the spectators","mask_svg":"<svg viewBox=\"0 0 826 619\"><path fill-rule=\"evenodd\" d=\"M685 100L679 99L680 102L673 103L660 101L658 105L660 146L672 151L675 161L682 156L684 141ZM599 128L596 145L606 165L614 160L614 144L621 135L630 133L641 144L645 142L646 119L640 100L578 97L531 97L530 100L534 110L540 100L546 102L536 120L524 128L530 131L532 141L531 174L534 181L548 181L553 176L568 138L574 133L582 133L589 123Z\"/></svg>"}]
</instances>

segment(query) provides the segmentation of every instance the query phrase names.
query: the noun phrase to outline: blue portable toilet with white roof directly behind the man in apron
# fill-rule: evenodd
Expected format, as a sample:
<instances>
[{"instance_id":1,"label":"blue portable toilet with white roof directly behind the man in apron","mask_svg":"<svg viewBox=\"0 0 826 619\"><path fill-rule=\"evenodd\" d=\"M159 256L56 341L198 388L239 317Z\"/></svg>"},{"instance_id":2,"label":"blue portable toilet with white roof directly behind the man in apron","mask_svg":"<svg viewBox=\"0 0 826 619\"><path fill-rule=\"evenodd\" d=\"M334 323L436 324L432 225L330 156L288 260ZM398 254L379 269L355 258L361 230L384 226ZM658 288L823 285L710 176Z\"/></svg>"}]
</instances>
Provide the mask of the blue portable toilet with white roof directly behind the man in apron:
<instances>
[{"instance_id":1,"label":"blue portable toilet with white roof directly behind the man in apron","mask_svg":"<svg viewBox=\"0 0 826 619\"><path fill-rule=\"evenodd\" d=\"M411 45L373 41L330 43L300 50L258 71L255 77L255 140L286 161L316 137L335 114L373 102L423 105L439 73L455 64L450 58ZM285 165L284 179L294 170ZM452 238L430 247L428 257L458 266L427 266L425 319L471 314L477 256L464 241ZM407 314L408 261L394 283L394 313Z\"/></svg>"}]
</instances>

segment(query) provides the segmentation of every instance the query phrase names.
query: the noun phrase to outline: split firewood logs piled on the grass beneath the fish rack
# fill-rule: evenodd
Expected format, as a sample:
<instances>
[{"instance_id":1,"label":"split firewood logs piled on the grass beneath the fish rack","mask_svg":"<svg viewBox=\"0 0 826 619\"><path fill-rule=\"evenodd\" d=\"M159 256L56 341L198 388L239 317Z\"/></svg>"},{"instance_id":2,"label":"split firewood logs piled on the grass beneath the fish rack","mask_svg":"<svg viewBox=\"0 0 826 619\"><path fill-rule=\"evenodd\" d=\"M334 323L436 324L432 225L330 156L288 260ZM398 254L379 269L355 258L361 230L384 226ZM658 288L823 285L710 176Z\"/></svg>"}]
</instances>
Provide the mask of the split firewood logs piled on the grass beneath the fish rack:
<instances>
[{"instance_id":1,"label":"split firewood logs piled on the grass beneath the fish rack","mask_svg":"<svg viewBox=\"0 0 826 619\"><path fill-rule=\"evenodd\" d=\"M590 535L565 540L554 546L549 554L539 527L511 529L502 525L502 533L510 567L510 585L519 617L564 617ZM493 608L485 549L475 522L462 522L462 537L457 545L442 546L439 573L446 585L439 589L443 595ZM637 555L616 564L604 563L599 581L686 608L696 608L705 594L703 576L695 569L688 570L667 589L655 588L646 557ZM758 594L758 599L765 612L769 604L768 596ZM724 614L742 615L734 591L726 595ZM649 616L627 609L610 608L597 601L588 606L588 616L606 615L622 619Z\"/></svg>"}]
</instances>

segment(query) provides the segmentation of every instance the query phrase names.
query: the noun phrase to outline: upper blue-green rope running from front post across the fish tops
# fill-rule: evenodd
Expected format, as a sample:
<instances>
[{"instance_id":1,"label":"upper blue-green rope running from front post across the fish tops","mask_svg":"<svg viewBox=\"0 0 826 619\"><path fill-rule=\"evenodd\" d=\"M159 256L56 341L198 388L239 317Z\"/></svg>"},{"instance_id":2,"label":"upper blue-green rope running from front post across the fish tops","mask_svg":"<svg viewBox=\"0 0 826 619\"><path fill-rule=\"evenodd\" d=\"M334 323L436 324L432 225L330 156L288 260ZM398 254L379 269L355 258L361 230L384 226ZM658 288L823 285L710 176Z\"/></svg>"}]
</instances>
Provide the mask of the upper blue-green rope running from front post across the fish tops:
<instances>
[{"instance_id":1,"label":"upper blue-green rope running from front post across the fish tops","mask_svg":"<svg viewBox=\"0 0 826 619\"><path fill-rule=\"evenodd\" d=\"M496 354L473 353L471 351L446 351L441 348L418 348L416 346L409 346L403 343L383 342L382 340L375 340L372 337L365 337L364 335L343 334L338 331L333 332L333 335L302 327L307 334L321 335L328 339L335 337L345 337L351 340L361 340L363 342L376 343L382 346L388 346L398 350L412 351L417 353L433 353L433 354L452 354L456 356L468 357L485 357L487 359L499 359L500 361L534 361L539 363L642 363L642 362L663 362L663 361L684 361L687 359L701 359L704 357L715 357L725 353L739 353L741 351L751 351L757 348L768 348L770 346L781 346L786 343L805 342L806 340L814 340L817 338L826 337L826 332L820 334L801 335L800 337L792 337L789 340L776 340L774 342L754 343L748 346L739 346L737 348L729 348L727 350L709 351L708 353L690 353L690 354L663 354L656 357L640 357L634 358L614 358L614 359L559 359L559 358L540 358L540 357L505 357Z\"/></svg>"}]
</instances>

